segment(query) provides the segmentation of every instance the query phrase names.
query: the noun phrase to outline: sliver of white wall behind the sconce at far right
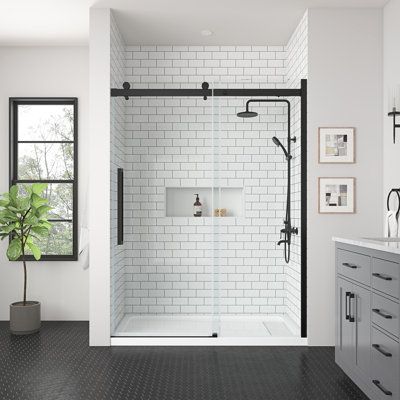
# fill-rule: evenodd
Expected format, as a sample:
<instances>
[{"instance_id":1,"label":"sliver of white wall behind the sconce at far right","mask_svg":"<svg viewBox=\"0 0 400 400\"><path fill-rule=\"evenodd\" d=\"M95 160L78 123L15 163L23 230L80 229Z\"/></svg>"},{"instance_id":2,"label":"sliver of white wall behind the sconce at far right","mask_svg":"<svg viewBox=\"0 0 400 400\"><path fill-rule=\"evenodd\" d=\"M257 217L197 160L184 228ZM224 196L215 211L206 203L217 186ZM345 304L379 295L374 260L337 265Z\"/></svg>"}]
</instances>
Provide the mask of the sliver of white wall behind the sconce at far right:
<instances>
[{"instance_id":1,"label":"sliver of white wall behind the sconce at far right","mask_svg":"<svg viewBox=\"0 0 400 400\"><path fill-rule=\"evenodd\" d=\"M400 0L391 0L383 11L383 200L391 188L400 187L400 130L393 144L393 119L387 116L390 91L400 85ZM398 122L399 123L399 119ZM397 204L392 204L397 206Z\"/></svg>"}]
</instances>

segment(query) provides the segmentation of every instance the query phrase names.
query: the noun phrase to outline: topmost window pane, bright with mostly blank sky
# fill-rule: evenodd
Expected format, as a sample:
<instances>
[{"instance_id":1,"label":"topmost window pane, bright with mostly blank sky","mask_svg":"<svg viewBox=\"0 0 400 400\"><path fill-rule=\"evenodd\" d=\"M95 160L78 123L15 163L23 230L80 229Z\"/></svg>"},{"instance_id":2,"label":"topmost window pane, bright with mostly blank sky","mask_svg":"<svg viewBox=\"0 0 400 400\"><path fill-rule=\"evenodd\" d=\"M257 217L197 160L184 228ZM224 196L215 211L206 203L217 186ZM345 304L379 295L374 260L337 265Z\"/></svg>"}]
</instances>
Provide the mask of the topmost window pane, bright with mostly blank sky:
<instances>
[{"instance_id":1,"label":"topmost window pane, bright with mostly blank sky","mask_svg":"<svg viewBox=\"0 0 400 400\"><path fill-rule=\"evenodd\" d=\"M20 104L18 140L74 140L74 106Z\"/></svg>"}]
</instances>

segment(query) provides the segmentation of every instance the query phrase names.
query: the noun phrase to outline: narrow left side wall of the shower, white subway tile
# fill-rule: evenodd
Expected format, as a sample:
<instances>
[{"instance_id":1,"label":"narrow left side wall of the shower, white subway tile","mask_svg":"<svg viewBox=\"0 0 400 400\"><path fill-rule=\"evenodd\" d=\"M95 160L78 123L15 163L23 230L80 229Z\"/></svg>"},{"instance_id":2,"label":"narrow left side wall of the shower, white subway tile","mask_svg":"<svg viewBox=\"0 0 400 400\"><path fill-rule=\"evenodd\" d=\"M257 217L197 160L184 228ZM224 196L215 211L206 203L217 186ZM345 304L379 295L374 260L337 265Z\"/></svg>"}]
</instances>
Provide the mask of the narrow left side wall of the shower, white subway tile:
<instances>
[{"instance_id":1,"label":"narrow left side wall of the shower, white subway tile","mask_svg":"<svg viewBox=\"0 0 400 400\"><path fill-rule=\"evenodd\" d=\"M112 87L118 87L124 78L125 53L124 41L118 31L114 18L111 16L111 76ZM117 245L117 169L124 167L125 162L125 100L120 97L111 98L111 173L110 173L110 203L111 203L111 332L124 315L125 304L125 252L124 245Z\"/></svg>"}]
</instances>

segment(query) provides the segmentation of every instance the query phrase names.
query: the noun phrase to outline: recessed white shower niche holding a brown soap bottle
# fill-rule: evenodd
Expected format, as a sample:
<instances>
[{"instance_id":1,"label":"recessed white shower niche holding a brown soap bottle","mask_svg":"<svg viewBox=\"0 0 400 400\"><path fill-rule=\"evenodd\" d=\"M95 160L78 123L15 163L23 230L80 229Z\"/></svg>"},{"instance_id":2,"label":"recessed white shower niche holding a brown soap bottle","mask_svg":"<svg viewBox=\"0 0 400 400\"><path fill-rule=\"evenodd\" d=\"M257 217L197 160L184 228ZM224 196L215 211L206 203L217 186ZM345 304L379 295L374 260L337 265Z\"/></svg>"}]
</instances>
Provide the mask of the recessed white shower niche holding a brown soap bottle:
<instances>
[{"instance_id":1,"label":"recessed white shower niche holding a brown soap bottle","mask_svg":"<svg viewBox=\"0 0 400 400\"><path fill-rule=\"evenodd\" d=\"M200 202L203 206L203 215L199 218L211 217L213 208L226 208L226 217L241 217L243 215L243 188L166 187L166 216L193 217L193 203L196 200L195 193L199 194Z\"/></svg>"}]
</instances>

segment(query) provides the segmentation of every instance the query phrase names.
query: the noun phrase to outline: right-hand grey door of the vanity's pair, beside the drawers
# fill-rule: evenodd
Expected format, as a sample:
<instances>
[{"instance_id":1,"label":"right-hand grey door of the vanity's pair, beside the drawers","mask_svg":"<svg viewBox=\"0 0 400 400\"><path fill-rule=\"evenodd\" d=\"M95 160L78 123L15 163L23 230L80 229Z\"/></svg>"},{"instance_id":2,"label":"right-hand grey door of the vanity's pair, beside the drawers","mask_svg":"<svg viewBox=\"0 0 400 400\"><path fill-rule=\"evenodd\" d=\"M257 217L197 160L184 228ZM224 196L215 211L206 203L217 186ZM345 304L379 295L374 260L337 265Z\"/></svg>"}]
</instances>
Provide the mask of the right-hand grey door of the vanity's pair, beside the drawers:
<instances>
[{"instance_id":1,"label":"right-hand grey door of the vanity's pair, beside the drawers","mask_svg":"<svg viewBox=\"0 0 400 400\"><path fill-rule=\"evenodd\" d=\"M357 368L363 375L370 374L371 356L371 294L369 290L353 285L354 334Z\"/></svg>"}]
</instances>

